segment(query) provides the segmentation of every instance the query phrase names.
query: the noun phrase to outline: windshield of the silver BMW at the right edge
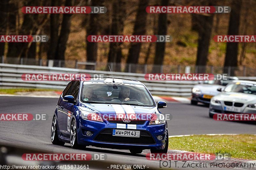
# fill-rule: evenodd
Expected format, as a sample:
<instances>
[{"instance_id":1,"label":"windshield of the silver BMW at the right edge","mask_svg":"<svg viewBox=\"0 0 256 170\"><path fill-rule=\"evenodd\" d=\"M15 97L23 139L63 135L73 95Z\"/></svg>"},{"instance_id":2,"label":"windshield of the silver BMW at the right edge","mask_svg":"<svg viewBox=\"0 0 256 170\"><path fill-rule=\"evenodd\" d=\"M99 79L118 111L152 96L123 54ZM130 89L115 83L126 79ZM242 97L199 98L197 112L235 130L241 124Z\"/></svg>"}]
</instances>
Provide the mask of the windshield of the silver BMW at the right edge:
<instances>
[{"instance_id":1,"label":"windshield of the silver BMW at the right edge","mask_svg":"<svg viewBox=\"0 0 256 170\"><path fill-rule=\"evenodd\" d=\"M226 86L224 92L256 94L256 84L236 82Z\"/></svg>"}]
</instances>

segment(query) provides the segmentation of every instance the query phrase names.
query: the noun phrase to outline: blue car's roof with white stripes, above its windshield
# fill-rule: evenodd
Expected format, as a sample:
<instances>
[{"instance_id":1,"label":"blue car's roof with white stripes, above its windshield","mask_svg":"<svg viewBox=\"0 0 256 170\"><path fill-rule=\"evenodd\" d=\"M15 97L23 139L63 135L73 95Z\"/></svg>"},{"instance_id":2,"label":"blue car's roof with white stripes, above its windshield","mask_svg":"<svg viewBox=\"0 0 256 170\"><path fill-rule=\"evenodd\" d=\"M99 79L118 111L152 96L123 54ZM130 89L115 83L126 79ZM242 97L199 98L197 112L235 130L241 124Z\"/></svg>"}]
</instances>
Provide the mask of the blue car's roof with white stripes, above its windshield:
<instances>
[{"instance_id":1,"label":"blue car's roof with white stripes, above its windshield","mask_svg":"<svg viewBox=\"0 0 256 170\"><path fill-rule=\"evenodd\" d=\"M90 80L86 80L86 78L90 78ZM105 82L105 83L113 83L112 77L82 77L77 78L81 82ZM136 84L136 85L143 85L140 81L127 79L127 78L116 78L114 77L115 83L127 83L127 84Z\"/></svg>"}]
</instances>

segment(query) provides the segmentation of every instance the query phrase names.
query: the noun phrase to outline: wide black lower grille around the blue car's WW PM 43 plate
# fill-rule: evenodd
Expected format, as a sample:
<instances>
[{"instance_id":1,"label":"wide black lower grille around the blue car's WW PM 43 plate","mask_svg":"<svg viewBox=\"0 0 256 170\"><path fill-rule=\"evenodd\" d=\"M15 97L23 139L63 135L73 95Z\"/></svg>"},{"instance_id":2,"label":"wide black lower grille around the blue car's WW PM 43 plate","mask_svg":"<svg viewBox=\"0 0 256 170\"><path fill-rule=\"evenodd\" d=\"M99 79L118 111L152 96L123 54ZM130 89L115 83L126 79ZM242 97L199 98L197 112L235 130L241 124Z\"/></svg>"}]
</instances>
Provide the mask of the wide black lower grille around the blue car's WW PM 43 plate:
<instances>
[{"instance_id":1,"label":"wide black lower grille around the blue car's WW PM 43 plate","mask_svg":"<svg viewBox=\"0 0 256 170\"><path fill-rule=\"evenodd\" d=\"M124 129L127 130L127 129ZM140 137L120 137L112 135L113 129L103 129L93 140L97 142L118 144L156 144L153 137L146 130L140 130Z\"/></svg>"}]
</instances>

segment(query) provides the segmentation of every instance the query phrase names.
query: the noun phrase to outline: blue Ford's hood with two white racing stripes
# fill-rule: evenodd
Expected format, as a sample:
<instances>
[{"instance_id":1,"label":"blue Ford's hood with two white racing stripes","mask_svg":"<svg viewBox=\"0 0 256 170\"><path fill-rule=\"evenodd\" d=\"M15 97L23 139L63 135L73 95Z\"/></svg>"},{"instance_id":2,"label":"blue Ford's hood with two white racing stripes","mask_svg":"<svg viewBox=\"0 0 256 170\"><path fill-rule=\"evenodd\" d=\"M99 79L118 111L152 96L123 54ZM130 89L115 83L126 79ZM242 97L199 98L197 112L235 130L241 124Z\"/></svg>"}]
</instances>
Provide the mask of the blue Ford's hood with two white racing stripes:
<instances>
[{"instance_id":1,"label":"blue Ford's hood with two white racing stripes","mask_svg":"<svg viewBox=\"0 0 256 170\"><path fill-rule=\"evenodd\" d=\"M153 114L157 111L157 107L98 103L83 103L80 104L79 108L84 111L100 114Z\"/></svg>"}]
</instances>

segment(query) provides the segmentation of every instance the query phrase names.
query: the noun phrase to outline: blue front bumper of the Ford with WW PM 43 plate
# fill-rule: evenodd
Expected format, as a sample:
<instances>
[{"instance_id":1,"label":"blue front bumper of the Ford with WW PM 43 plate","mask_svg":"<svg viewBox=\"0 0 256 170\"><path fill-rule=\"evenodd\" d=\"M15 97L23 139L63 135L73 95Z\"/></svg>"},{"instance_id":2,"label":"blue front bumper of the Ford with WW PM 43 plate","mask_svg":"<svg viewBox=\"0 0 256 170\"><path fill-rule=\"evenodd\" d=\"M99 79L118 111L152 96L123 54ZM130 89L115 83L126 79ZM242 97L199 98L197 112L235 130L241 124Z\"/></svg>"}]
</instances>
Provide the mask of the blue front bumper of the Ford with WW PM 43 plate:
<instances>
[{"instance_id":1,"label":"blue front bumper of the Ford with WW PM 43 plate","mask_svg":"<svg viewBox=\"0 0 256 170\"><path fill-rule=\"evenodd\" d=\"M133 126L132 129L128 129L127 125L123 128L118 128L125 130L140 130L140 137L119 137L112 136L112 130L117 129L116 123L109 123L108 121L96 122L80 118L79 124L77 125L77 142L81 145L102 148L164 149L165 141L168 137L166 135L166 124L148 124L149 121L146 121L144 124L137 124L136 127ZM87 131L91 131L92 135L87 136ZM162 140L157 139L157 136L159 135L163 136Z\"/></svg>"}]
</instances>

